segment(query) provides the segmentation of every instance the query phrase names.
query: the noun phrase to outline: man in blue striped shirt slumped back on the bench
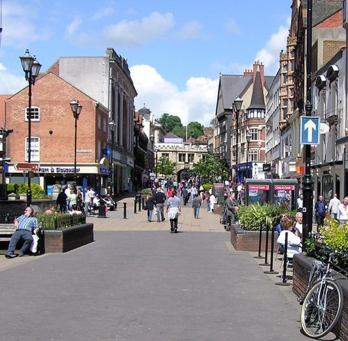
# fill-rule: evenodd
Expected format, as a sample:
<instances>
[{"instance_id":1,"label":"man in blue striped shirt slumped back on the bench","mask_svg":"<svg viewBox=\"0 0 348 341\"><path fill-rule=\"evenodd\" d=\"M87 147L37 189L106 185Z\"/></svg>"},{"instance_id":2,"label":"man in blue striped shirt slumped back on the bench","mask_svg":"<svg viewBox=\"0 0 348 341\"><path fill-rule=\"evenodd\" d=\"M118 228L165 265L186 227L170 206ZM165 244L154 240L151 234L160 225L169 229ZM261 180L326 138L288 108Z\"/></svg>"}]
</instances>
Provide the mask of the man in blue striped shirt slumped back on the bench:
<instances>
[{"instance_id":1,"label":"man in blue striped shirt slumped back on the bench","mask_svg":"<svg viewBox=\"0 0 348 341\"><path fill-rule=\"evenodd\" d=\"M31 243L33 242L33 234L36 234L39 231L38 219L36 219L33 214L33 208L27 207L24 210L24 214L16 218L13 222L16 231L13 233L10 244L8 245L8 251L5 253L6 258L15 257L14 252L19 240L24 240L24 244L19 250L18 256L22 257L24 256L24 253L29 251Z\"/></svg>"}]
</instances>

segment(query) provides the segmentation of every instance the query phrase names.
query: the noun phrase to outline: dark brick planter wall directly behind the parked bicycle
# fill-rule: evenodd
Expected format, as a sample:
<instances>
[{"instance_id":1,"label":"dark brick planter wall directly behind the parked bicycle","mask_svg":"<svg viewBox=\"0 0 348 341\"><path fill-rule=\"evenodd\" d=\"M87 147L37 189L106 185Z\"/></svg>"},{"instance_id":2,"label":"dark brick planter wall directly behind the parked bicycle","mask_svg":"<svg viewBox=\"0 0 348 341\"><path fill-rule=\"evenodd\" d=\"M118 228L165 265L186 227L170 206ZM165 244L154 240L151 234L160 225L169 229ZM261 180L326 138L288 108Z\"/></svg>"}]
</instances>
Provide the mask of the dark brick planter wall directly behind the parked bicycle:
<instances>
[{"instance_id":1,"label":"dark brick planter wall directly behind the parked bicycle","mask_svg":"<svg viewBox=\"0 0 348 341\"><path fill-rule=\"evenodd\" d=\"M313 259L303 256L302 253L294 255L294 265L292 270L292 291L297 296L303 296L308 285L310 268ZM344 301L343 310L338 324L333 328L333 332L340 340L348 340L348 278L342 275L335 276L342 287Z\"/></svg>"}]
</instances>

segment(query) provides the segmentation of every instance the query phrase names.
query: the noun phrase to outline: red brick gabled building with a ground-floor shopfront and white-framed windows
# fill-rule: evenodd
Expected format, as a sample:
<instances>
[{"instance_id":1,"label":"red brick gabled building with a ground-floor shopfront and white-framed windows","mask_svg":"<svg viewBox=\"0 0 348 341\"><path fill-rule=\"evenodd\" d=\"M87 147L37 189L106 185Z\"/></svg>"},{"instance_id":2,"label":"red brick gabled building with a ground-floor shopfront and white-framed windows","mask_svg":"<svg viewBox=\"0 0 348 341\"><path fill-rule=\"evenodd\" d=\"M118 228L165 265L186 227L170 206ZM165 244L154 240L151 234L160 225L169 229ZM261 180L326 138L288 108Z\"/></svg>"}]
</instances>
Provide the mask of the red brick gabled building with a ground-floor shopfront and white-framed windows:
<instances>
[{"instance_id":1,"label":"red brick gabled building with a ground-floor shopfront and white-framed windows","mask_svg":"<svg viewBox=\"0 0 348 341\"><path fill-rule=\"evenodd\" d=\"M107 108L53 72L38 78L32 90L31 163L38 163L40 168L31 182L45 190L50 185L73 183L74 117L70 101L75 98L83 107L77 122L77 185L97 190L106 186L109 161L102 155L102 145L107 140ZM27 173L17 171L14 165L28 159L27 110L28 88L5 101L4 124L13 129L7 140L9 183L26 182Z\"/></svg>"}]
</instances>

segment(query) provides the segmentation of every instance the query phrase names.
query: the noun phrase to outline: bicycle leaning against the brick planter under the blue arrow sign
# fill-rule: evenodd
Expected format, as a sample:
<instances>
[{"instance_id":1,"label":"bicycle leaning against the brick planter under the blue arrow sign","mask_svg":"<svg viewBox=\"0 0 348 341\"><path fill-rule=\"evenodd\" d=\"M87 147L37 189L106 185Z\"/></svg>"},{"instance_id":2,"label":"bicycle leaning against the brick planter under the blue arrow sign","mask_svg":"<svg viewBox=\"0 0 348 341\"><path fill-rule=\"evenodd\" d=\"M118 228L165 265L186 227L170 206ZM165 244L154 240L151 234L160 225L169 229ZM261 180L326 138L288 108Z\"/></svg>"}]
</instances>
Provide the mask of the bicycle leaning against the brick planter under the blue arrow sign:
<instances>
[{"instance_id":1,"label":"bicycle leaning against the brick planter under the blue arrow sign","mask_svg":"<svg viewBox=\"0 0 348 341\"><path fill-rule=\"evenodd\" d=\"M343 292L333 278L333 263L338 251L319 250L322 260L313 260L302 304L301 326L310 338L322 338L328 334L340 319L343 308Z\"/></svg>"}]
</instances>

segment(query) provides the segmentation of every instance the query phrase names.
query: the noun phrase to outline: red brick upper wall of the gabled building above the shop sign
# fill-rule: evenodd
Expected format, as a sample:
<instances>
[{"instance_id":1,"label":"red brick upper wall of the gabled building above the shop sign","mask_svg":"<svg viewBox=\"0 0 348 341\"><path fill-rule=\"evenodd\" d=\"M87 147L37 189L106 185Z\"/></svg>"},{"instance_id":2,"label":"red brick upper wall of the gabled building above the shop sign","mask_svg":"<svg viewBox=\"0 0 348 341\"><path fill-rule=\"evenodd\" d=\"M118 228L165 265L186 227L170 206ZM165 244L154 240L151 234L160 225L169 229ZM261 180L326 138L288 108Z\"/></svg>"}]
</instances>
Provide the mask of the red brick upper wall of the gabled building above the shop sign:
<instances>
[{"instance_id":1,"label":"red brick upper wall of the gabled building above the shop sign","mask_svg":"<svg viewBox=\"0 0 348 341\"><path fill-rule=\"evenodd\" d=\"M83 106L77 122L77 149L91 151L77 153L77 163L95 163L95 137L106 140L106 132L97 129L96 111L106 119L107 114L95 108L93 99L52 73L38 79L32 93L32 106L40 108L40 122L31 123L31 136L40 138L40 163L74 162L74 117L70 108L73 98ZM13 162L24 161L24 141L28 136L24 110L27 106L28 88L6 101L6 125L13 128L8 137L8 154Z\"/></svg>"}]
</instances>

